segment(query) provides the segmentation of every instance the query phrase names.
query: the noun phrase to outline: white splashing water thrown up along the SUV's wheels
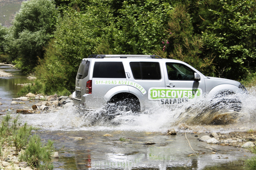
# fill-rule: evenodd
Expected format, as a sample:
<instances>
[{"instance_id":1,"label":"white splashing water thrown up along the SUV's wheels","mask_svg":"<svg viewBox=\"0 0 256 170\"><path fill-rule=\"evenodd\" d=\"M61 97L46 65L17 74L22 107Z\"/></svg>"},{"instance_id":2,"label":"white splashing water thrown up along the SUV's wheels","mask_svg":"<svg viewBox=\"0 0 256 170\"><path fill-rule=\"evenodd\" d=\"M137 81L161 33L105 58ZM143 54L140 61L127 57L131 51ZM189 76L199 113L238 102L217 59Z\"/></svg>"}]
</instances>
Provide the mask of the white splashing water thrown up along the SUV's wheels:
<instances>
[{"instance_id":1,"label":"white splashing water thrown up along the SUV's wheels","mask_svg":"<svg viewBox=\"0 0 256 170\"><path fill-rule=\"evenodd\" d=\"M180 105L164 106L155 104L150 106L145 112L133 114L121 112L115 118L106 115L104 108L97 111L81 111L74 106L65 105L64 108L56 112L37 115L21 115L22 122L29 125L50 129L50 130L121 130L121 131L149 131L161 132L170 128L175 128L181 123L188 125L199 125L201 130L203 125L227 124L229 128L243 130L253 129L256 120L256 90L251 88L250 95L239 95L242 100L240 112L234 111L231 104L213 107L213 103L222 100L207 98L197 98Z\"/></svg>"}]
</instances>

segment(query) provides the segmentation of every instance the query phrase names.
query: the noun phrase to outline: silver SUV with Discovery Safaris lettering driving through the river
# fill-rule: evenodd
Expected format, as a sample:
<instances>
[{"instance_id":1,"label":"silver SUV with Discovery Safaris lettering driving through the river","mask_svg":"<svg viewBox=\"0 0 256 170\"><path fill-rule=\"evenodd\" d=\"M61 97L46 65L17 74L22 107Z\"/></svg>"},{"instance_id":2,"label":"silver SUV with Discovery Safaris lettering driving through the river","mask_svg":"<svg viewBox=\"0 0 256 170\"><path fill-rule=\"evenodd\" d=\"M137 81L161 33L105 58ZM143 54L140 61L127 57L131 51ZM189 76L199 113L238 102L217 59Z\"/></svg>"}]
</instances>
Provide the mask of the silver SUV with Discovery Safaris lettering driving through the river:
<instances>
[{"instance_id":1,"label":"silver SUV with Discovery Safaris lettering driving through the river","mask_svg":"<svg viewBox=\"0 0 256 170\"><path fill-rule=\"evenodd\" d=\"M236 94L245 91L237 81L205 77L178 60L155 55L90 55L79 66L73 101L85 109L126 106L142 112L153 103L174 105L206 95L212 99L231 96L229 101L239 111L241 101Z\"/></svg>"}]
</instances>

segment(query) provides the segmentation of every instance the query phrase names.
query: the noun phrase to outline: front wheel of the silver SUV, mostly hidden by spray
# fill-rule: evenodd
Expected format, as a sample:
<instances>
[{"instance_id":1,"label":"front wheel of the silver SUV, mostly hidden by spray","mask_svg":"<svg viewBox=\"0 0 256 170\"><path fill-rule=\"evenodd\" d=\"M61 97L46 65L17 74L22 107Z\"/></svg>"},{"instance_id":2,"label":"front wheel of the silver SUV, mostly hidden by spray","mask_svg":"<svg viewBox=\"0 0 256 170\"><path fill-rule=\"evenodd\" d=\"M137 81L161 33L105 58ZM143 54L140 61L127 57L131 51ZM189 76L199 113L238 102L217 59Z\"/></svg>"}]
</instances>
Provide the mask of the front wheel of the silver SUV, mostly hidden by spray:
<instances>
[{"instance_id":1,"label":"front wheel of the silver SUV, mostly hidden by spray","mask_svg":"<svg viewBox=\"0 0 256 170\"><path fill-rule=\"evenodd\" d=\"M211 108L217 111L227 109L228 111L240 112L242 109L242 102L238 96L232 91L219 92L211 100Z\"/></svg>"}]
</instances>

